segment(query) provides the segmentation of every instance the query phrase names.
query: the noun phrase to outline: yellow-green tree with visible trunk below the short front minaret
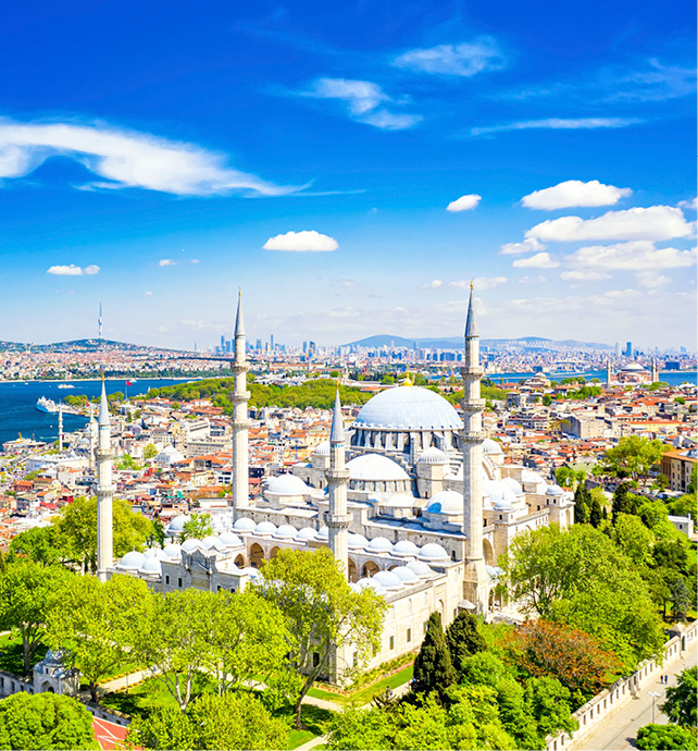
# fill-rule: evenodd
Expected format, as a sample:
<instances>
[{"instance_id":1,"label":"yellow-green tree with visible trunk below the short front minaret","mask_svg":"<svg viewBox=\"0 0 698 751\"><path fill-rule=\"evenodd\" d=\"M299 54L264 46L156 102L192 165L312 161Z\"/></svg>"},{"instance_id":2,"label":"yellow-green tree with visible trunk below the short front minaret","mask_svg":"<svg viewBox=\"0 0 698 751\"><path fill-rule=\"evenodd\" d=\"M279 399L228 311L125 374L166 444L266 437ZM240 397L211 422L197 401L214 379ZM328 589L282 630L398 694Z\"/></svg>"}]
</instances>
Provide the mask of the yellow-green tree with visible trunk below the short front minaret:
<instances>
[{"instance_id":1,"label":"yellow-green tree with visible trunk below the short front minaret","mask_svg":"<svg viewBox=\"0 0 698 751\"><path fill-rule=\"evenodd\" d=\"M303 697L328 670L337 651L354 648L354 669L378 651L387 604L370 589L354 592L326 547L312 553L279 551L275 558L264 562L255 586L288 620L290 662L306 677L295 709L296 727L300 728ZM350 667L344 669L347 675L351 672Z\"/></svg>"}]
</instances>

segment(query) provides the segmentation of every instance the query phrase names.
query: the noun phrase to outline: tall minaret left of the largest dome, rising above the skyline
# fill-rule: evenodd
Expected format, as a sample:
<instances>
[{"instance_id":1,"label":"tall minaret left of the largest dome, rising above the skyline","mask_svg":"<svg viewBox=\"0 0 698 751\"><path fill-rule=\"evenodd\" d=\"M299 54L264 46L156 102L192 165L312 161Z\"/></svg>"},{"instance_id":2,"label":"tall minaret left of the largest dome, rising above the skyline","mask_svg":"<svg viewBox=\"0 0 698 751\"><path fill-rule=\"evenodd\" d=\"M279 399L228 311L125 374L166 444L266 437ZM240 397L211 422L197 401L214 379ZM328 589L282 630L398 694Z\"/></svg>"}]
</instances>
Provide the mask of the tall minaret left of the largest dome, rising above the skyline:
<instances>
[{"instance_id":1,"label":"tall minaret left of the largest dome, rising above the skyline","mask_svg":"<svg viewBox=\"0 0 698 751\"><path fill-rule=\"evenodd\" d=\"M250 503L247 403L250 392L247 390L247 371L249 366L245 354L245 322L242 321L242 295L238 292L237 318L235 319L235 358L230 366L234 374L233 389L233 508L235 518L238 510Z\"/></svg>"}]
</instances>

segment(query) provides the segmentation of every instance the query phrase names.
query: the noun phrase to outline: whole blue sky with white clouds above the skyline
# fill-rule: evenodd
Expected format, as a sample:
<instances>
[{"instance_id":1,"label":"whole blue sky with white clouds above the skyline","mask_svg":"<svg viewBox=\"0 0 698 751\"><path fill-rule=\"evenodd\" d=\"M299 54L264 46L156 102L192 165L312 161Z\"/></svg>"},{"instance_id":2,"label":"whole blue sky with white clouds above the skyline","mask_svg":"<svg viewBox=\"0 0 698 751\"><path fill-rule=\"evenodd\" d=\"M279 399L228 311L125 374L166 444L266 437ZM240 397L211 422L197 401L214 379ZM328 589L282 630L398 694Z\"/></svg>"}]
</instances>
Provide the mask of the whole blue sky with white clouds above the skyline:
<instances>
[{"instance_id":1,"label":"whole blue sky with white clouds above the skyline","mask_svg":"<svg viewBox=\"0 0 698 751\"><path fill-rule=\"evenodd\" d=\"M0 340L696 348L687 0L0 11Z\"/></svg>"}]
</instances>

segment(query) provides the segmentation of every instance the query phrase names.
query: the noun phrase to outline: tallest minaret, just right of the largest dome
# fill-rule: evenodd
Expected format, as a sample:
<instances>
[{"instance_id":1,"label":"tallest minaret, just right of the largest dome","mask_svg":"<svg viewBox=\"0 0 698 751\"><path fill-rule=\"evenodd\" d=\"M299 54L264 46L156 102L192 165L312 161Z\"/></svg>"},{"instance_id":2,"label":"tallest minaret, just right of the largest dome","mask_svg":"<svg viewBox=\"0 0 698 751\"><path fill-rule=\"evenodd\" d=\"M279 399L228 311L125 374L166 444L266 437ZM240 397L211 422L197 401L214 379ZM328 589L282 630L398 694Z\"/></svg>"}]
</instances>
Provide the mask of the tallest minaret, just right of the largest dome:
<instances>
[{"instance_id":1,"label":"tallest minaret, just right of the largest dome","mask_svg":"<svg viewBox=\"0 0 698 751\"><path fill-rule=\"evenodd\" d=\"M483 557L483 409L485 399L479 396L479 336L475 321L473 283L470 285L470 304L465 322L465 350L463 355L463 534L468 538L465 555L464 595L478 613L486 613L488 605L487 573Z\"/></svg>"}]
</instances>

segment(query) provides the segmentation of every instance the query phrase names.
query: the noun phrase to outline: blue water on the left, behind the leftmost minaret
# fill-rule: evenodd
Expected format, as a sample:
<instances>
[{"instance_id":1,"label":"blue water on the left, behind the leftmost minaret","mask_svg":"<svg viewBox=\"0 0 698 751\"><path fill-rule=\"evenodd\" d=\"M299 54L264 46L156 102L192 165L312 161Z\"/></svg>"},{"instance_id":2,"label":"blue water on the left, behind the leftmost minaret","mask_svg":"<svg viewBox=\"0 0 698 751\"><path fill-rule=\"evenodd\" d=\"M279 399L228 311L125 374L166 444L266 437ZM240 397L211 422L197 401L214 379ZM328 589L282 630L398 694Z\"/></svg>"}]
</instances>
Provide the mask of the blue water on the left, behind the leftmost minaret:
<instances>
[{"instance_id":1,"label":"blue water on the left, behind the leftmost minaret","mask_svg":"<svg viewBox=\"0 0 698 751\"><path fill-rule=\"evenodd\" d=\"M107 394L115 391L128 392L128 396L145 394L148 389L169 386L191 379L138 379L132 386L121 379L107 381ZM25 438L34 436L37 441L55 441L58 439L58 413L40 413L36 401L40 396L53 399L57 404L68 395L87 394L97 399L102 390L101 380L71 381L74 389L59 389L61 381L11 381L0 383L0 444L12 441L22 433ZM79 415L63 415L63 431L71 433L85 427L85 418Z\"/></svg>"}]
</instances>

